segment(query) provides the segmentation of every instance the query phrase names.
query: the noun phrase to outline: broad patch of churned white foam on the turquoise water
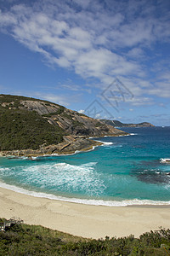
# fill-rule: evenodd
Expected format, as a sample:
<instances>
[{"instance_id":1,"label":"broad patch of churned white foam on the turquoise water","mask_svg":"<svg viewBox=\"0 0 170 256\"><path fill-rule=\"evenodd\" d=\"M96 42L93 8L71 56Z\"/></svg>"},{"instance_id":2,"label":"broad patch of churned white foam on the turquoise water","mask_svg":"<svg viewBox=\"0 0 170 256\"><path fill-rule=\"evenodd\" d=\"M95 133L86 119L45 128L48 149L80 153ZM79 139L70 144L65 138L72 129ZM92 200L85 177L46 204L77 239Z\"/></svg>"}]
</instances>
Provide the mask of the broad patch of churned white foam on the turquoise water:
<instances>
[{"instance_id":1,"label":"broad patch of churned white foam on the turquoise water","mask_svg":"<svg viewBox=\"0 0 170 256\"><path fill-rule=\"evenodd\" d=\"M55 164L35 164L31 166L14 166L0 168L3 177L11 177L22 186L30 188L48 187L53 193L65 191L70 194L75 191L84 195L101 195L105 191L105 184L101 175L95 171L96 162L89 162L80 166L65 162Z\"/></svg>"}]
</instances>

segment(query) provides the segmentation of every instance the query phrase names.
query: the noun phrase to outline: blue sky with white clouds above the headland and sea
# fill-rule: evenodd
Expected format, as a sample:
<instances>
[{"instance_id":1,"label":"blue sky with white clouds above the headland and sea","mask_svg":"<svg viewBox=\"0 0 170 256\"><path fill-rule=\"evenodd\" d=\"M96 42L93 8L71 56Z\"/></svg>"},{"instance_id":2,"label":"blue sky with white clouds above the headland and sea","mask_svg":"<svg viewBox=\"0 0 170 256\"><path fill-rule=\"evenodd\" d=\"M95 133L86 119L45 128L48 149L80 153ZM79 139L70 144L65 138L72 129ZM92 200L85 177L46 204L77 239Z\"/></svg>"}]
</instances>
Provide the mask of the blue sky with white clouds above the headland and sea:
<instances>
[{"instance_id":1,"label":"blue sky with white clouds above the headland and sea","mask_svg":"<svg viewBox=\"0 0 170 256\"><path fill-rule=\"evenodd\" d=\"M170 126L170 1L0 0L0 93Z\"/></svg>"}]
</instances>

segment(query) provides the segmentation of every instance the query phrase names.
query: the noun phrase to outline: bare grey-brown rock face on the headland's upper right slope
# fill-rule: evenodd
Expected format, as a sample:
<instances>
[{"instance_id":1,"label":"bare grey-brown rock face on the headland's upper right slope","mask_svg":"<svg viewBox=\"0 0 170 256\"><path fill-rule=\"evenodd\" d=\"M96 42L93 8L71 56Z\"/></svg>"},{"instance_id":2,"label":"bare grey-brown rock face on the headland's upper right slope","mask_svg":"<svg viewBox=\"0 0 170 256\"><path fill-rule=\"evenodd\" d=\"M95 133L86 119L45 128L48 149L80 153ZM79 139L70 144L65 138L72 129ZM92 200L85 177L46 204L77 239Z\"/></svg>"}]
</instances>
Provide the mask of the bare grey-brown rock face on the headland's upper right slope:
<instances>
[{"instance_id":1,"label":"bare grey-brown rock face on the headland's upper right slope","mask_svg":"<svg viewBox=\"0 0 170 256\"><path fill-rule=\"evenodd\" d=\"M77 113L54 103L42 101L21 101L23 107L30 111L36 111L48 119L51 125L59 125L67 133L76 136L101 137L105 135L116 135L123 133L106 125L97 119Z\"/></svg>"}]
</instances>

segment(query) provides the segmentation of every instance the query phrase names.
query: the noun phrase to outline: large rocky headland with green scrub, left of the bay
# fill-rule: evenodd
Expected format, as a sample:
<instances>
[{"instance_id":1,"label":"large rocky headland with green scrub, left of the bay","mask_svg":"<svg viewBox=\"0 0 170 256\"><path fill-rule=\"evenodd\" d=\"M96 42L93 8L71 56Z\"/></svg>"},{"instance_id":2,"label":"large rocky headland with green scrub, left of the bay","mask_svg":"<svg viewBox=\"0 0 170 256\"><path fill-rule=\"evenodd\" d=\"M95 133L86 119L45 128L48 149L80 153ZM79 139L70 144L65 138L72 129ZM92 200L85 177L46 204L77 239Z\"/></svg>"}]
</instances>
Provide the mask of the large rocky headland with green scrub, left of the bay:
<instances>
[{"instance_id":1,"label":"large rocky headland with green scrub, left of the bay","mask_svg":"<svg viewBox=\"0 0 170 256\"><path fill-rule=\"evenodd\" d=\"M0 95L1 154L65 154L99 143L88 137L126 134L58 104Z\"/></svg>"}]
</instances>

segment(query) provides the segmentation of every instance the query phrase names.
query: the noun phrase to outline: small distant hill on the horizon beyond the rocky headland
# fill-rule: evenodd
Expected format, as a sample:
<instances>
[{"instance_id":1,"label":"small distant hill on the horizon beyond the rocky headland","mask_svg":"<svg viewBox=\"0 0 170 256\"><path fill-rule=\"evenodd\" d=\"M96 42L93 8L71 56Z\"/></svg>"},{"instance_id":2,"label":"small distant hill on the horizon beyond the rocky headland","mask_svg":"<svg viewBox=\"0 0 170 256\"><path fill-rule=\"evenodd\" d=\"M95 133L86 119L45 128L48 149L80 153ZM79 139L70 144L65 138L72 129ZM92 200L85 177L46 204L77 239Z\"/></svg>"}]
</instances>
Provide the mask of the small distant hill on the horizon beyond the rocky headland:
<instances>
[{"instance_id":1,"label":"small distant hill on the horizon beyond the rocky headland","mask_svg":"<svg viewBox=\"0 0 170 256\"><path fill-rule=\"evenodd\" d=\"M113 127L154 127L154 125L148 122L143 122L139 124L123 124L118 120L101 119L101 121L104 122L106 125L111 125Z\"/></svg>"}]
</instances>

